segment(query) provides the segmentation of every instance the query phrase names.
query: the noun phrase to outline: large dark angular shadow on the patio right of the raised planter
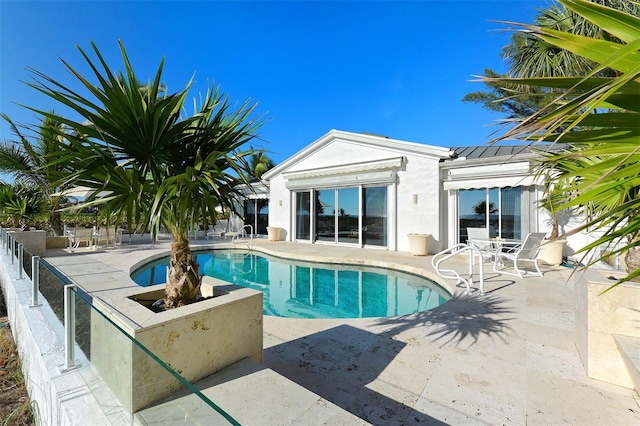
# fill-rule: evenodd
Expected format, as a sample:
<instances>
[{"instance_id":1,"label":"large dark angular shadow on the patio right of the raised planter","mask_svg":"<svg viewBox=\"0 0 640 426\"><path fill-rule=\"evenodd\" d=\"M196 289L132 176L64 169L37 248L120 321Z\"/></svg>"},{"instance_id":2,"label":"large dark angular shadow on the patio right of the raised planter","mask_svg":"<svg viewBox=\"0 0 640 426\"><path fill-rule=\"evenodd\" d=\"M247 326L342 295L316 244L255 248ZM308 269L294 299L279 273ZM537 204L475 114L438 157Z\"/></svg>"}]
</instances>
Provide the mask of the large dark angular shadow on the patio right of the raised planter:
<instances>
[{"instance_id":1,"label":"large dark angular shadow on the patio right of the raised planter","mask_svg":"<svg viewBox=\"0 0 640 426\"><path fill-rule=\"evenodd\" d=\"M371 424L445 424L414 410L418 393L381 379L405 346L341 325L265 349L263 363Z\"/></svg>"}]
</instances>

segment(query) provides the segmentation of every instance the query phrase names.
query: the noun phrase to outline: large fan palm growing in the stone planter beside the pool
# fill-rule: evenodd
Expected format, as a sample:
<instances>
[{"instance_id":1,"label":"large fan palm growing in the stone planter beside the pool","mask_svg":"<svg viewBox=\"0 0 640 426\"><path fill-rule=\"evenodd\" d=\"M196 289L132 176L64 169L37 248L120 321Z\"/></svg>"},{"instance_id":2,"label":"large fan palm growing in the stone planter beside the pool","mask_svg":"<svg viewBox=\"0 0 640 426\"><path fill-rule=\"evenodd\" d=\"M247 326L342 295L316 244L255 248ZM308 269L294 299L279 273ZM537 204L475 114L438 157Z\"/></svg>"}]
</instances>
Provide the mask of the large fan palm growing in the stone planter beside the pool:
<instances>
[{"instance_id":1,"label":"large fan palm growing in the stone planter beside the pool","mask_svg":"<svg viewBox=\"0 0 640 426\"><path fill-rule=\"evenodd\" d=\"M255 104L233 107L218 88L203 96L193 115L181 117L191 81L176 93L162 93L164 61L146 90L140 90L122 43L124 72L114 74L91 43L98 62L78 48L93 71L96 85L63 61L92 95L76 90L36 70L36 90L71 108L83 121L37 111L64 123L64 151L48 164L59 162L73 173L61 182L110 191L103 198L90 196L84 206L103 205L107 218L150 229L161 227L172 236L169 279L164 308L194 302L201 277L189 246L189 230L196 224L216 222L216 206L230 211L240 195L239 183L252 176L244 147L255 137L262 119L252 119ZM109 225L109 223L107 223Z\"/></svg>"}]
</instances>

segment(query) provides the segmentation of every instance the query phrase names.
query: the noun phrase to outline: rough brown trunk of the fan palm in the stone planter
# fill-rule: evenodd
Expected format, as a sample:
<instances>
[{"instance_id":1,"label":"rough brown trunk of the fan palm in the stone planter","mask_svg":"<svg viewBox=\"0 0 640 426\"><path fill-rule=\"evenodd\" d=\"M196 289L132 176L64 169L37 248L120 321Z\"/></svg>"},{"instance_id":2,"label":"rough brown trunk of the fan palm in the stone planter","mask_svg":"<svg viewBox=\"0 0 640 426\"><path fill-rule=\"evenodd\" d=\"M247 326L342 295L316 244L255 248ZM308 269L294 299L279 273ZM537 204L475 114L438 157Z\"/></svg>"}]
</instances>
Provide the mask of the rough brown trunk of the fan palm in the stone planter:
<instances>
[{"instance_id":1,"label":"rough brown trunk of the fan palm in the stone planter","mask_svg":"<svg viewBox=\"0 0 640 426\"><path fill-rule=\"evenodd\" d=\"M177 308L196 301L202 277L198 273L189 240L171 243L171 260L165 287L164 309Z\"/></svg>"}]
</instances>

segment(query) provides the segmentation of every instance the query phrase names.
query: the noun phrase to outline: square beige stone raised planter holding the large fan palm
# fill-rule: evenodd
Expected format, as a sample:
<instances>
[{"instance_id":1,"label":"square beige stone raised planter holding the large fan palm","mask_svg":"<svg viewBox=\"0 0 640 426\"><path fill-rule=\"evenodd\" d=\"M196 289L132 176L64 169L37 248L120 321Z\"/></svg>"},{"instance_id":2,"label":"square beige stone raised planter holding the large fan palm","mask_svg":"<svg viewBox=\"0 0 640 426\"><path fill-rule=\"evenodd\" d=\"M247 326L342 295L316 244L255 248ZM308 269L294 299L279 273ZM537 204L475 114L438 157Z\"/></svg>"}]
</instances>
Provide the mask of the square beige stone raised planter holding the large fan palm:
<instances>
[{"instance_id":1,"label":"square beige stone raised planter holding the large fan palm","mask_svg":"<svg viewBox=\"0 0 640 426\"><path fill-rule=\"evenodd\" d=\"M262 292L204 277L202 293L214 290L222 295L160 313L138 300L162 298L164 284L94 300L108 320L92 310L91 364L124 408L134 413L181 384L110 321L190 383L244 358L262 362Z\"/></svg>"}]
</instances>

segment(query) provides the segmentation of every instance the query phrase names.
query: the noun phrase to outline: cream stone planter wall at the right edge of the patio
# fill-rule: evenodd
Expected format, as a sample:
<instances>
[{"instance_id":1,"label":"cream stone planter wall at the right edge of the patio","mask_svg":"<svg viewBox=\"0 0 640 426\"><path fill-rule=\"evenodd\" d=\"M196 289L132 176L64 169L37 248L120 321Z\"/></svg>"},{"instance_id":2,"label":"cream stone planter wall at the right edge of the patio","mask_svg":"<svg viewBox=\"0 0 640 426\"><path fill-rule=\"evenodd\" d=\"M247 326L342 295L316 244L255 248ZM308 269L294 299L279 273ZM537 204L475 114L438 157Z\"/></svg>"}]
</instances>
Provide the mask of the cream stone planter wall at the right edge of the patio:
<instances>
[{"instance_id":1,"label":"cream stone planter wall at the right edge of the patio","mask_svg":"<svg viewBox=\"0 0 640 426\"><path fill-rule=\"evenodd\" d=\"M589 377L633 389L615 336L640 338L640 284L624 283L602 293L614 283L592 269L576 274L576 346Z\"/></svg>"}]
</instances>

